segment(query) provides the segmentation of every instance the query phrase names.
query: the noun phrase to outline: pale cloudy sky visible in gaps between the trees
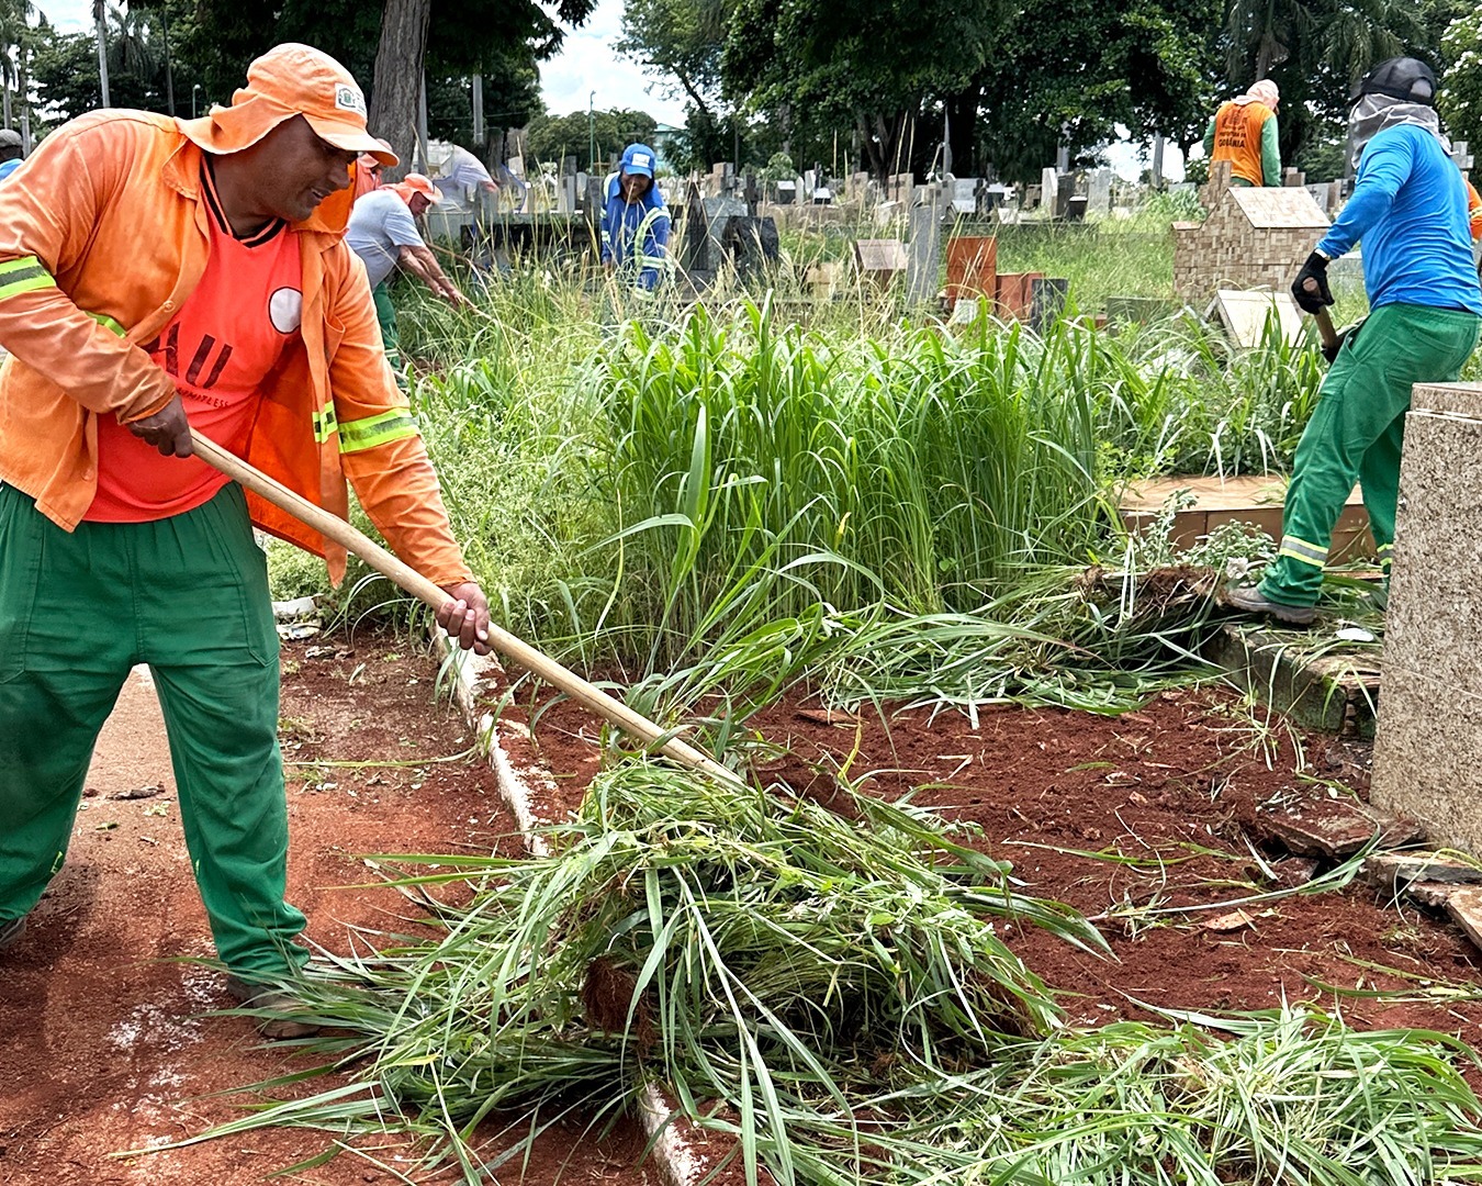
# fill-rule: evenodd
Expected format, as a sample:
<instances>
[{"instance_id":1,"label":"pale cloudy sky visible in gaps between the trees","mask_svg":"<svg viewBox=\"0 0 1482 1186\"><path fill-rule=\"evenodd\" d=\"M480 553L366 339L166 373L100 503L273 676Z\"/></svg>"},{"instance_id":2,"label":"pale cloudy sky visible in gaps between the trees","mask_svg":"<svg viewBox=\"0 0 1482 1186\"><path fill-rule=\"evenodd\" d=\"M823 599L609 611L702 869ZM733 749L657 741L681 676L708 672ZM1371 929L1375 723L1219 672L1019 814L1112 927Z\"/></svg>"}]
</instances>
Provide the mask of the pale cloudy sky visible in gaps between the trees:
<instances>
[{"instance_id":1,"label":"pale cloudy sky visible in gaps between the trees","mask_svg":"<svg viewBox=\"0 0 1482 1186\"><path fill-rule=\"evenodd\" d=\"M92 28L92 0L36 3L59 30ZM587 99L596 90L599 108L636 107L659 123L683 123L683 104L665 98L662 87L655 86L634 62L618 58L612 50L621 33L622 0L599 0L591 19L569 33L562 52L541 65L545 107L556 116L585 111Z\"/></svg>"}]
</instances>

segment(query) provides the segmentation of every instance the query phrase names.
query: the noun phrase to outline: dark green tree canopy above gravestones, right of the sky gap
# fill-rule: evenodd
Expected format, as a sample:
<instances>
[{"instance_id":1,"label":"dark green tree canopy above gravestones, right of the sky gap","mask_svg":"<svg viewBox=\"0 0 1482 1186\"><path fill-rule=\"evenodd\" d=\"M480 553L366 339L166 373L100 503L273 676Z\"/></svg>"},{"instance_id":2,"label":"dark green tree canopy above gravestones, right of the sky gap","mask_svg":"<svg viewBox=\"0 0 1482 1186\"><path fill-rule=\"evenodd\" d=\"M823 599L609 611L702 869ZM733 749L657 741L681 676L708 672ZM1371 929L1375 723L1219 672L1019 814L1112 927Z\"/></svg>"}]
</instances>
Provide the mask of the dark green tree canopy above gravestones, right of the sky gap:
<instances>
[{"instance_id":1,"label":"dark green tree canopy above gravestones, right of the sky gap","mask_svg":"<svg viewBox=\"0 0 1482 1186\"><path fill-rule=\"evenodd\" d=\"M1400 52L1439 59L1467 0L627 0L621 49L689 102L689 136L760 165L877 175L943 160L1037 176L1128 129L1189 147L1220 99L1270 76L1288 159L1325 153L1352 82ZM716 129L728 126L722 139ZM1331 153L1329 153L1331 156ZM1323 157L1325 159L1325 157Z\"/></svg>"}]
</instances>

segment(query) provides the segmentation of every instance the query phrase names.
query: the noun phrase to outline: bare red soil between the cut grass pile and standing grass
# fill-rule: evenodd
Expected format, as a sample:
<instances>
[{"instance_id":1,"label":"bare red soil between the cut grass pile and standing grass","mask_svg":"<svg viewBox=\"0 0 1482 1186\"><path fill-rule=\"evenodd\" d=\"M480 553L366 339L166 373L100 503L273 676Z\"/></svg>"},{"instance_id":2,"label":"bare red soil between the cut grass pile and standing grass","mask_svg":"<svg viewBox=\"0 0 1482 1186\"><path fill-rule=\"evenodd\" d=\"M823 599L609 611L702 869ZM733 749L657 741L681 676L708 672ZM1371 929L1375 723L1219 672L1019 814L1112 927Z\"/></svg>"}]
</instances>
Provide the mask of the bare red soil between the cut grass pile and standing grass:
<instances>
[{"instance_id":1,"label":"bare red soil between the cut grass pile and standing grass","mask_svg":"<svg viewBox=\"0 0 1482 1186\"><path fill-rule=\"evenodd\" d=\"M1325 799L1368 786L1360 743L1301 735L1279 718L1257 729L1235 697L1169 691L1119 718L1058 709L991 707L974 723L957 712L901 712L882 722L830 715L790 698L754 719L766 741L791 750L763 774L794 793L846 809L833 772L858 744L849 777L883 798L913 802L981 829L972 841L1014 863L1026 892L1057 898L1088 916L1135 904L1220 903L1273 888L1248 844L1280 878L1297 861L1258 844L1257 806ZM536 720L535 743L569 805L596 769L599 725L557 703ZM1298 775L1298 749L1306 775ZM1323 780L1323 781L1319 781ZM1120 852L1163 867L1132 867L1082 852ZM1209 849L1199 854L1197 849ZM1220 882L1226 882L1221 885ZM1438 916L1381 900L1355 882L1341 892L1288 897L1230 910L1098 924L1113 959L1027 928L1015 949L1066 993L1071 1023L1150 1017L1169 1010L1258 1010L1282 999L1338 1008L1356 1026L1458 1033L1482 1050L1482 1002L1338 998L1316 984L1406 989L1415 980L1463 981L1482 996L1482 953ZM1217 925L1209 925L1217 924ZM1236 925L1232 925L1236 924ZM1482 1078L1473 1075L1476 1082Z\"/></svg>"}]
</instances>

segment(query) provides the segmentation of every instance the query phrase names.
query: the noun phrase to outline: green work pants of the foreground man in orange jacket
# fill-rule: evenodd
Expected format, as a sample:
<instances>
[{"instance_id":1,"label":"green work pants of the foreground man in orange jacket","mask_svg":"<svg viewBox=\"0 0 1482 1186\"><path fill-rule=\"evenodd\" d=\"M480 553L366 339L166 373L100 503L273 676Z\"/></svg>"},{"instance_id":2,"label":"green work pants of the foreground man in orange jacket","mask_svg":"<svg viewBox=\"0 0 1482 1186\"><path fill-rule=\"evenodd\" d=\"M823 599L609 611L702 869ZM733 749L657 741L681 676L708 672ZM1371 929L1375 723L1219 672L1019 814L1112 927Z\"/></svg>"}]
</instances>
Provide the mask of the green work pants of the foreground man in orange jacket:
<instances>
[{"instance_id":1,"label":"green work pants of the foreground man in orange jacket","mask_svg":"<svg viewBox=\"0 0 1482 1186\"><path fill-rule=\"evenodd\" d=\"M98 731L147 663L216 952L249 980L301 967L304 916L283 901L277 657L240 486L169 519L71 534L0 486L0 921L62 867Z\"/></svg>"}]
</instances>

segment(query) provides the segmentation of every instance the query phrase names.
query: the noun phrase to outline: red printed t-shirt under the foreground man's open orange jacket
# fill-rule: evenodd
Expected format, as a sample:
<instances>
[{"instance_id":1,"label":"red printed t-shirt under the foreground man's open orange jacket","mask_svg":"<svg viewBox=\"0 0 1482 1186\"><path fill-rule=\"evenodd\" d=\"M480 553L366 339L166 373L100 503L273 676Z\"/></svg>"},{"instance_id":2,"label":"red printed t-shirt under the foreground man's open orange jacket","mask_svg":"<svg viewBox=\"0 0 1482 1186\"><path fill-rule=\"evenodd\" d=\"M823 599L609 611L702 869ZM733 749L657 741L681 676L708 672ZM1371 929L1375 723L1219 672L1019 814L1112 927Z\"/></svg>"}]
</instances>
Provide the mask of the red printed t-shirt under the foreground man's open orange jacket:
<instances>
[{"instance_id":1,"label":"red printed t-shirt under the foreground man's open orange jacket","mask_svg":"<svg viewBox=\"0 0 1482 1186\"><path fill-rule=\"evenodd\" d=\"M298 234L276 219L237 239L209 166L202 168L202 193L210 224L206 273L144 350L175 380L191 427L243 454L256 418L258 385L302 320ZM104 415L98 418L98 494L83 519L166 519L202 506L228 480L199 458L162 457L117 417Z\"/></svg>"}]
</instances>

